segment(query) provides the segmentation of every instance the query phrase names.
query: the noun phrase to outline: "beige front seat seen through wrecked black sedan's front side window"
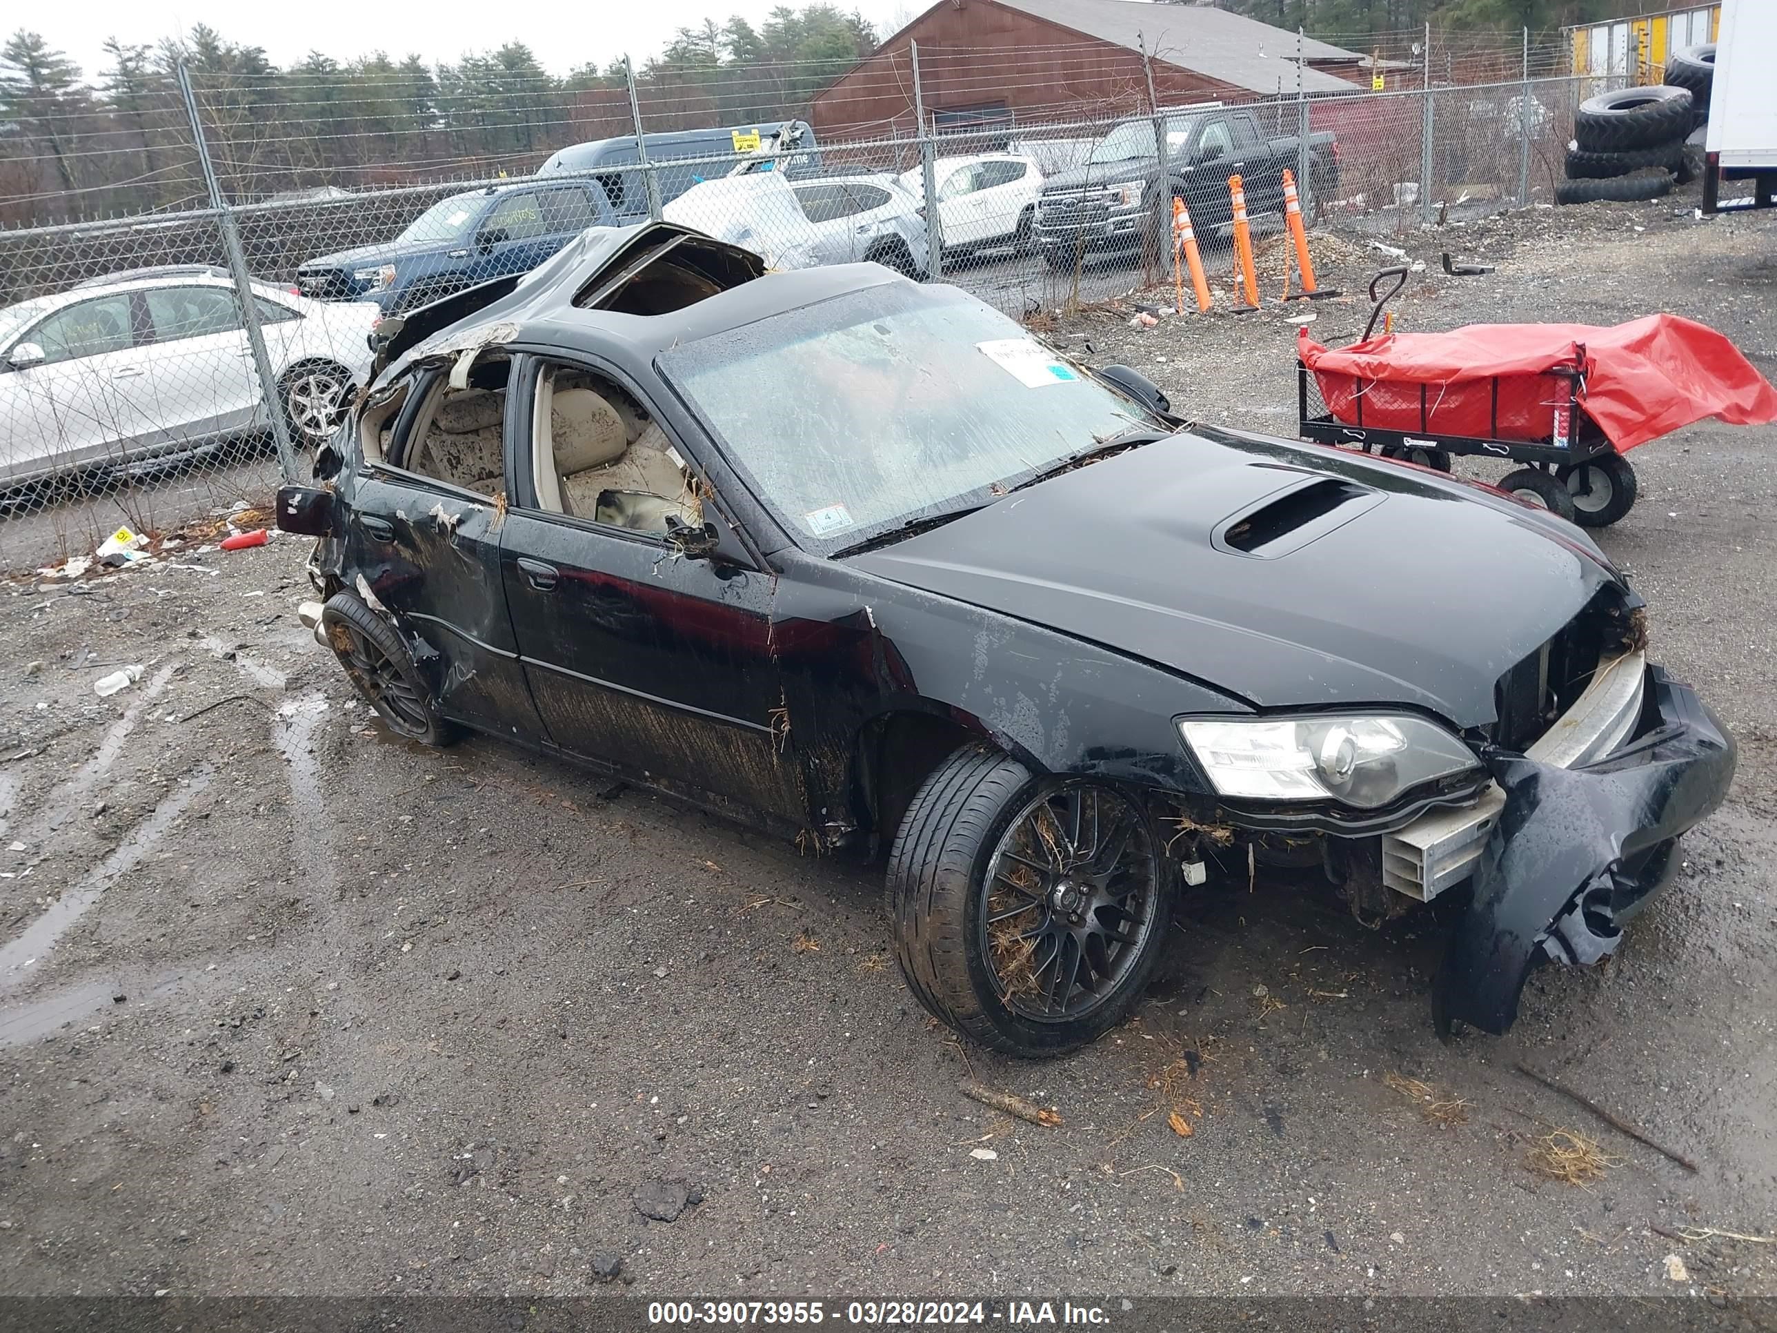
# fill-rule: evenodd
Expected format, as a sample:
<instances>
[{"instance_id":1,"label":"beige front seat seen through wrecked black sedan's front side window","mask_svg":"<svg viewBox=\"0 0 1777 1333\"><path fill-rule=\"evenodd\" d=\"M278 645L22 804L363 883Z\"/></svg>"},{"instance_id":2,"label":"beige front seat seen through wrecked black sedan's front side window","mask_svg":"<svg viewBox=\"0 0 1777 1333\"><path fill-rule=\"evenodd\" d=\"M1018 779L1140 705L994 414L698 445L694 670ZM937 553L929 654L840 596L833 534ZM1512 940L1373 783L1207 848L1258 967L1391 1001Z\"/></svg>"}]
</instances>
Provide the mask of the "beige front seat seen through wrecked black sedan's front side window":
<instances>
[{"instance_id":1,"label":"beige front seat seen through wrecked black sedan's front side window","mask_svg":"<svg viewBox=\"0 0 1777 1333\"><path fill-rule=\"evenodd\" d=\"M652 421L620 412L594 389L558 389L549 403L549 443L562 489L562 510L618 528L666 531L666 515L698 523L684 471L666 453L666 434ZM602 508L604 491L613 496ZM636 496L654 496L650 505Z\"/></svg>"}]
</instances>

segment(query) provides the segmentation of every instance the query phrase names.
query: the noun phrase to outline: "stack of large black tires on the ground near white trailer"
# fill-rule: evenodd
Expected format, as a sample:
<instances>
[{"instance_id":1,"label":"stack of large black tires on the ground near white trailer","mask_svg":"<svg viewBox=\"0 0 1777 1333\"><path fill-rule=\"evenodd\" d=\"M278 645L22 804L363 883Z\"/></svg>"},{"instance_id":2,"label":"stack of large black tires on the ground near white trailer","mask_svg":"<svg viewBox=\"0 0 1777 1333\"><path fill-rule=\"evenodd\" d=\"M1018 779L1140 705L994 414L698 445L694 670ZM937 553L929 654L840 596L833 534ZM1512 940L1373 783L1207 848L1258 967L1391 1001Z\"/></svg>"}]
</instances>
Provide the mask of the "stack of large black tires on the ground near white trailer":
<instances>
[{"instance_id":1,"label":"stack of large black tires on the ground near white trailer","mask_svg":"<svg viewBox=\"0 0 1777 1333\"><path fill-rule=\"evenodd\" d=\"M1573 117L1567 180L1555 188L1555 203L1626 204L1669 194L1674 181L1683 185L1692 178L1685 140L1695 128L1697 101L1688 85L1628 87L1587 98Z\"/></svg>"}]
</instances>

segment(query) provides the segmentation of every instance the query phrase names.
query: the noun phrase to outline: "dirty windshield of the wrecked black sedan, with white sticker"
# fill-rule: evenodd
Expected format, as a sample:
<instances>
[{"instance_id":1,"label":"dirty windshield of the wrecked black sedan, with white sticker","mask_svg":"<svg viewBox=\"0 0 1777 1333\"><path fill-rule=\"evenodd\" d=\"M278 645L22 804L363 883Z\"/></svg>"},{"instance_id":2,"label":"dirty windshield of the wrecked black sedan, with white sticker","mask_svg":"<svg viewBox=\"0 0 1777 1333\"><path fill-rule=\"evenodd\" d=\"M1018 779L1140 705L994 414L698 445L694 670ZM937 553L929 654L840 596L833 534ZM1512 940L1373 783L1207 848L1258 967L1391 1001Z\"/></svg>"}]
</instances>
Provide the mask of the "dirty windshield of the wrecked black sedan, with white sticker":
<instances>
[{"instance_id":1,"label":"dirty windshield of the wrecked black sedan, with white sticker","mask_svg":"<svg viewBox=\"0 0 1777 1333\"><path fill-rule=\"evenodd\" d=\"M855 291L673 348L659 368L759 498L825 551L988 503L1155 425L947 288Z\"/></svg>"}]
</instances>

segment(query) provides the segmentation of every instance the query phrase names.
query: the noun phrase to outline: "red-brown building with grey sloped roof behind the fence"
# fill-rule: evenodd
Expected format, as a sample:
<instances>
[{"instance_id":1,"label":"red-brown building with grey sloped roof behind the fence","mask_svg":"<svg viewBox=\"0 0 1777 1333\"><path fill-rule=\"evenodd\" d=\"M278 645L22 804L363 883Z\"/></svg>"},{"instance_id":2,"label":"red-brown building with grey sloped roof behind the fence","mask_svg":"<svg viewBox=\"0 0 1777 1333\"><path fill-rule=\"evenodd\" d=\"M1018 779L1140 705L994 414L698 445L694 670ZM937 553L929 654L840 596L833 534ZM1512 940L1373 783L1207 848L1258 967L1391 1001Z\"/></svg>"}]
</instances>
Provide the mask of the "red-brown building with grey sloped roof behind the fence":
<instances>
[{"instance_id":1,"label":"red-brown building with grey sloped roof behind the fence","mask_svg":"<svg viewBox=\"0 0 1777 1333\"><path fill-rule=\"evenodd\" d=\"M1368 85L1368 60L1223 9L1146 0L938 0L828 85L825 140L910 135L913 44L928 121L1016 128L1162 107Z\"/></svg>"}]
</instances>

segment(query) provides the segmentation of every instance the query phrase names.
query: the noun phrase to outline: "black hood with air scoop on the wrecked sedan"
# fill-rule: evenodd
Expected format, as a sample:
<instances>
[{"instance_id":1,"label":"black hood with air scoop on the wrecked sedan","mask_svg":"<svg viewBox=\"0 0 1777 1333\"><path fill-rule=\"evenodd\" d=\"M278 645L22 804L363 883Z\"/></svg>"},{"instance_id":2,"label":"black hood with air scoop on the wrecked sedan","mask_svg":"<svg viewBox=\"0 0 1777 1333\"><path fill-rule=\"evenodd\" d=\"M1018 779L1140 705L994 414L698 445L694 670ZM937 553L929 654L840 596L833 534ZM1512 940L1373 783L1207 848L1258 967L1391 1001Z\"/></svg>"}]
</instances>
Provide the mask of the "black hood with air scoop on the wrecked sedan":
<instances>
[{"instance_id":1,"label":"black hood with air scoop on the wrecked sedan","mask_svg":"<svg viewBox=\"0 0 1777 1333\"><path fill-rule=\"evenodd\" d=\"M1246 547L1246 549L1242 549ZM1196 428L848 563L1260 707L1494 720L1494 682L1617 581L1578 528L1404 464Z\"/></svg>"}]
</instances>

